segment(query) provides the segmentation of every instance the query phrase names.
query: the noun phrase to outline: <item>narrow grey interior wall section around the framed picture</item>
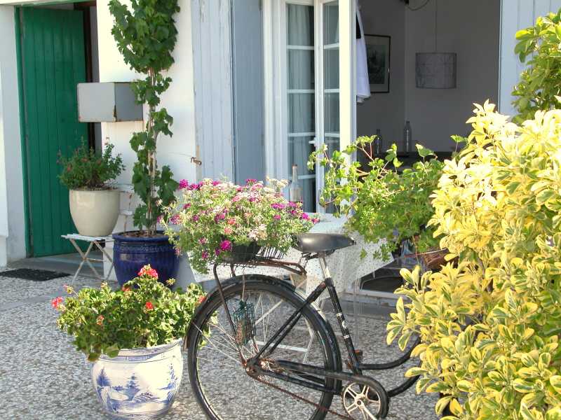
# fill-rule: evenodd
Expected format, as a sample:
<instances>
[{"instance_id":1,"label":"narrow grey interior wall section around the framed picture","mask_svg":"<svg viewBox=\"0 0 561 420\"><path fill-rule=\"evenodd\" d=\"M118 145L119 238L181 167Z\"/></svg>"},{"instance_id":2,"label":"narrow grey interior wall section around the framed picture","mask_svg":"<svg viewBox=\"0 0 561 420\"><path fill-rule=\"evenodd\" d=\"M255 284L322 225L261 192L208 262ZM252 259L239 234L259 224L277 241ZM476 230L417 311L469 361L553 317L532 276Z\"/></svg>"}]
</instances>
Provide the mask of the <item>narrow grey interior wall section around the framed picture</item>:
<instances>
[{"instance_id":1,"label":"narrow grey interior wall section around the framed picture","mask_svg":"<svg viewBox=\"0 0 561 420\"><path fill-rule=\"evenodd\" d=\"M401 137L405 118L405 6L397 0L360 0L365 34L391 36L390 91L357 104L357 134L380 129L384 144Z\"/></svg>"}]
</instances>

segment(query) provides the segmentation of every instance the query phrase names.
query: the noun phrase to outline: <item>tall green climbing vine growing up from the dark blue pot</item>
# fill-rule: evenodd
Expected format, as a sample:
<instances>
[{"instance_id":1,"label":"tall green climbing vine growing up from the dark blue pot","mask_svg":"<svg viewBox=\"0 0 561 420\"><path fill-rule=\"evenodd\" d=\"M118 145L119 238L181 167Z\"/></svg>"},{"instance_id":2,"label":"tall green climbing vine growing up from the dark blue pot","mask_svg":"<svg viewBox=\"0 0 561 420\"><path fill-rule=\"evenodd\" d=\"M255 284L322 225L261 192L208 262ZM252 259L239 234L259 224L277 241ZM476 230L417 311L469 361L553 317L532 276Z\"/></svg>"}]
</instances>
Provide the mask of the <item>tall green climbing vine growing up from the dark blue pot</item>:
<instances>
[{"instance_id":1,"label":"tall green climbing vine growing up from the dark blue pot","mask_svg":"<svg viewBox=\"0 0 561 420\"><path fill-rule=\"evenodd\" d=\"M158 136L171 136L173 118L165 108L156 109L160 96L168 90L171 78L163 76L173 64L172 52L177 41L173 15L179 12L177 0L134 0L132 11L119 0L109 1L115 18L113 34L123 59L131 69L145 74L135 80L133 90L137 102L147 104L146 130L133 134L130 146L137 154L133 167L133 186L142 200L133 216L135 226L146 227L151 235L156 231L163 207L175 200L177 182L168 166L158 168L156 143Z\"/></svg>"}]
</instances>

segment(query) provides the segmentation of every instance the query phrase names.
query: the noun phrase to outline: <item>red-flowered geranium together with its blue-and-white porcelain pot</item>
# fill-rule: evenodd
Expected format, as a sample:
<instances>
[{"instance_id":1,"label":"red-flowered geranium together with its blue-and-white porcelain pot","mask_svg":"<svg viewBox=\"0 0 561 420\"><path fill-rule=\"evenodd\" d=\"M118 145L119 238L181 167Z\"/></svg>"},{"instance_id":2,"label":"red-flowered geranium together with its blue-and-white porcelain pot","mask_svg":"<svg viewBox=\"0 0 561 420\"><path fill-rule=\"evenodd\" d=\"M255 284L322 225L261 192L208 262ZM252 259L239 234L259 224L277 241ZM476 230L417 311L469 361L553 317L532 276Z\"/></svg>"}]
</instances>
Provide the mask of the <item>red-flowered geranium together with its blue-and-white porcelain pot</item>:
<instances>
[{"instance_id":1,"label":"red-flowered geranium together with its blue-and-white porcelain pot","mask_svg":"<svg viewBox=\"0 0 561 420\"><path fill-rule=\"evenodd\" d=\"M182 380L182 338L203 300L201 287L172 291L147 265L120 290L102 283L77 293L67 286L67 292L52 301L57 324L93 362L93 387L105 412L135 419L167 412Z\"/></svg>"}]
</instances>

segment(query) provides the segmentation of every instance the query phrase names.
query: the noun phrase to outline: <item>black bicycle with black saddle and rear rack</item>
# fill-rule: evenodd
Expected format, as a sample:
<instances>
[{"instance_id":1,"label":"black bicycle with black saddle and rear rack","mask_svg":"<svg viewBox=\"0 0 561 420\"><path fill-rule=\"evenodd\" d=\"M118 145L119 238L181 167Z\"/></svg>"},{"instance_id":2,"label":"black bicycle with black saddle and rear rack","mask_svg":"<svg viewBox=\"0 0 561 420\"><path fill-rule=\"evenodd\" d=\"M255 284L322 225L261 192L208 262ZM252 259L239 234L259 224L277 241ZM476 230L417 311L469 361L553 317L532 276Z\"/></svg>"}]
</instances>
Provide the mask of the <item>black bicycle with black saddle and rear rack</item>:
<instances>
[{"instance_id":1,"label":"black bicycle with black saddle and rear rack","mask_svg":"<svg viewBox=\"0 0 561 420\"><path fill-rule=\"evenodd\" d=\"M388 363L362 363L346 325L325 257L354 244L344 235L307 233L296 238L299 262L281 260L272 249L237 255L232 277L221 281L198 307L186 337L189 379L209 419L320 420L328 413L342 419L383 419L389 400L416 381L413 377L386 390L363 372L405 363L417 346ZM258 274L236 275L239 267L280 267L306 275L317 258L323 281L304 297L288 281ZM348 360L344 370L339 344L316 302L327 290L342 333ZM331 408L342 397L344 412Z\"/></svg>"}]
</instances>

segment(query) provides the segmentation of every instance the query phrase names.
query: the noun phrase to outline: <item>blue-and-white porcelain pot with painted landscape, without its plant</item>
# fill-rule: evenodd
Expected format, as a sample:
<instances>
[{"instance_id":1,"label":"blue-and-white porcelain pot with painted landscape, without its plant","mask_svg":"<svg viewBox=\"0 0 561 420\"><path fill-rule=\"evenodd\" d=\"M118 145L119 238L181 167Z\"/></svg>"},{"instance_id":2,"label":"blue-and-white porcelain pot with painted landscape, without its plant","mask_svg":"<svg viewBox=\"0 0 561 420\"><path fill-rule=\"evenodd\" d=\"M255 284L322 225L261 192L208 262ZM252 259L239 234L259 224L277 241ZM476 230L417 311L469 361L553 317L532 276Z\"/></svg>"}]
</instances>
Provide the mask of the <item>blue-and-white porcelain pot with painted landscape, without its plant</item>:
<instances>
[{"instance_id":1,"label":"blue-and-white porcelain pot with painted landscape, without its plant","mask_svg":"<svg viewBox=\"0 0 561 420\"><path fill-rule=\"evenodd\" d=\"M93 387L105 412L115 419L154 419L168 412L183 376L182 341L121 349L93 363Z\"/></svg>"}]
</instances>

